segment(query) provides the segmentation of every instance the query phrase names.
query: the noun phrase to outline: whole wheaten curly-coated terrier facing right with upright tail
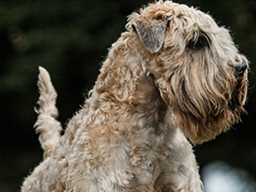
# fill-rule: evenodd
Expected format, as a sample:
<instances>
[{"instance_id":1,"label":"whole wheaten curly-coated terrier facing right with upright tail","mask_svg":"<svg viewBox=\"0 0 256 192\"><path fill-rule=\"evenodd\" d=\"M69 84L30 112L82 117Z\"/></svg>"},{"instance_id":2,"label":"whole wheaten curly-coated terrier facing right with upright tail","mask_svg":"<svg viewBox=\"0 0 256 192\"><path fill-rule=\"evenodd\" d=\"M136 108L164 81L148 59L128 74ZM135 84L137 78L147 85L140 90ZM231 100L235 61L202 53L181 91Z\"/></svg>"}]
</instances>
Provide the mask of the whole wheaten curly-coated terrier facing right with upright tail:
<instances>
[{"instance_id":1,"label":"whole wheaten curly-coated terrier facing right with upright tail","mask_svg":"<svg viewBox=\"0 0 256 192\"><path fill-rule=\"evenodd\" d=\"M159 1L132 13L63 136L40 68L44 161L22 191L203 191L188 140L239 121L247 68L227 29L193 7Z\"/></svg>"}]
</instances>

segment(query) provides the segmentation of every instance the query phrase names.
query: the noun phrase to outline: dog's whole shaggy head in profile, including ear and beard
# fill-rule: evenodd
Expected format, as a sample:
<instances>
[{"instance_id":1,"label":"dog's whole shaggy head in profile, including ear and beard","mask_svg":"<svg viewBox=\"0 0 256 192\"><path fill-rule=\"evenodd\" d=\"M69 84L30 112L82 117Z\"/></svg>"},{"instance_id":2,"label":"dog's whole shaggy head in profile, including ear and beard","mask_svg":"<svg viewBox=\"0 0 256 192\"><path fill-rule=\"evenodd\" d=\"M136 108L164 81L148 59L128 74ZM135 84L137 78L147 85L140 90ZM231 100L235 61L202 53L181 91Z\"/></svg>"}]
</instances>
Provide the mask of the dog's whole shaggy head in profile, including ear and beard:
<instances>
[{"instance_id":1,"label":"dog's whole shaggy head in profile, including ear and beard","mask_svg":"<svg viewBox=\"0 0 256 192\"><path fill-rule=\"evenodd\" d=\"M248 61L227 29L209 15L171 1L133 13L128 29L147 49L148 73L193 143L211 140L239 120Z\"/></svg>"}]
</instances>

